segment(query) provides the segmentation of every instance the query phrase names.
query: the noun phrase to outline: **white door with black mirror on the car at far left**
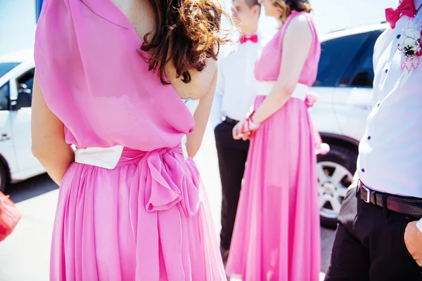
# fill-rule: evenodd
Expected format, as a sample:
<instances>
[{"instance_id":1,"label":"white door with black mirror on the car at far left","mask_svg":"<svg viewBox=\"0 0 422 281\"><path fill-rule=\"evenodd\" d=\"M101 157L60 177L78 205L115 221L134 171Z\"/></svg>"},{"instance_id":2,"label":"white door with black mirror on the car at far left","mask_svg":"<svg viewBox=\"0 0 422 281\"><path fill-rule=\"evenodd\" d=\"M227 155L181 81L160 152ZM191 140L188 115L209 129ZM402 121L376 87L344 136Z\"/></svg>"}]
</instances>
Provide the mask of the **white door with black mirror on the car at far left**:
<instances>
[{"instance_id":1,"label":"white door with black mirror on the car at far left","mask_svg":"<svg viewBox=\"0 0 422 281\"><path fill-rule=\"evenodd\" d=\"M20 77L15 79L13 91L15 100L12 100L12 131L13 145L20 173L28 173L39 170L41 164L32 155L31 151L31 102L32 84L34 84L34 68L27 70ZM37 173L34 173L37 174Z\"/></svg>"}]
</instances>

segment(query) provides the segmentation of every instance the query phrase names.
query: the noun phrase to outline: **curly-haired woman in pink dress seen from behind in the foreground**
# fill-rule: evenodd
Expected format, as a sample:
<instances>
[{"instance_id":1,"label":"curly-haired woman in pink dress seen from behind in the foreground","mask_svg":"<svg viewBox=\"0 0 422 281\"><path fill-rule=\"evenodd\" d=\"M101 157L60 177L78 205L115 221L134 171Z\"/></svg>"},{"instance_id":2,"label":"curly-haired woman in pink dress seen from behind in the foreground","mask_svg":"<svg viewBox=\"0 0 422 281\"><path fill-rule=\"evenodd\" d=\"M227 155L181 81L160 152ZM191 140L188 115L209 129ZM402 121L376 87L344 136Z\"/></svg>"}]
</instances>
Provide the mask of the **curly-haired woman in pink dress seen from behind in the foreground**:
<instances>
[{"instance_id":1,"label":"curly-haired woman in pink dress seen from behind in the foreground","mask_svg":"<svg viewBox=\"0 0 422 281\"><path fill-rule=\"evenodd\" d=\"M44 1L32 147L60 184L50 280L225 277L191 159L221 15L216 0Z\"/></svg>"}]
</instances>

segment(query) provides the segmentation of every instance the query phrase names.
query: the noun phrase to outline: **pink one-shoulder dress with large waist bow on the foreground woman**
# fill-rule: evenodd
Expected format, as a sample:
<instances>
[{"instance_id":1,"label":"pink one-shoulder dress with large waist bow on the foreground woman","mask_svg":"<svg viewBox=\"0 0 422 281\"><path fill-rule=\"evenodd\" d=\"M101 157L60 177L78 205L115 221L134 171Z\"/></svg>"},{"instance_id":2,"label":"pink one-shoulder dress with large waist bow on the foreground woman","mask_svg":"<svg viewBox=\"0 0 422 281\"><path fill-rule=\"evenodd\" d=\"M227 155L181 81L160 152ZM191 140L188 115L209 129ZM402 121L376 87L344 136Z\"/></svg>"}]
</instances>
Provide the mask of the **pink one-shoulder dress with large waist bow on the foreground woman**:
<instances>
[{"instance_id":1,"label":"pink one-shoulder dress with large waist bow on the foreground woman","mask_svg":"<svg viewBox=\"0 0 422 281\"><path fill-rule=\"evenodd\" d=\"M76 145L60 185L52 281L224 279L207 197L182 138L188 107L139 55L109 0L46 0L34 58Z\"/></svg>"}]
</instances>

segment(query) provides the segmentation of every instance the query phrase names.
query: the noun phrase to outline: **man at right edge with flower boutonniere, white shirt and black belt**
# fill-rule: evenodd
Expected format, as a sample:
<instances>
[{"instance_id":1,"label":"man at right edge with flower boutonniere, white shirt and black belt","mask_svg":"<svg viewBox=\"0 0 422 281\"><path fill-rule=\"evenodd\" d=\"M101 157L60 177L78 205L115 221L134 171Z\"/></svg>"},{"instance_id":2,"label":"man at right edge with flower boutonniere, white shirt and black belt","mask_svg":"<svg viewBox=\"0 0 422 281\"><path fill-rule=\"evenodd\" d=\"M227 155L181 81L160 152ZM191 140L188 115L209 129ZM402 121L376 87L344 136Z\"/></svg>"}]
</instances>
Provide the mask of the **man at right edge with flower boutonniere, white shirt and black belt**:
<instances>
[{"instance_id":1,"label":"man at right edge with flower boutonniere, white shirt and black belt","mask_svg":"<svg viewBox=\"0 0 422 281\"><path fill-rule=\"evenodd\" d=\"M422 0L385 12L359 181L345 197L326 280L422 280Z\"/></svg>"}]
</instances>

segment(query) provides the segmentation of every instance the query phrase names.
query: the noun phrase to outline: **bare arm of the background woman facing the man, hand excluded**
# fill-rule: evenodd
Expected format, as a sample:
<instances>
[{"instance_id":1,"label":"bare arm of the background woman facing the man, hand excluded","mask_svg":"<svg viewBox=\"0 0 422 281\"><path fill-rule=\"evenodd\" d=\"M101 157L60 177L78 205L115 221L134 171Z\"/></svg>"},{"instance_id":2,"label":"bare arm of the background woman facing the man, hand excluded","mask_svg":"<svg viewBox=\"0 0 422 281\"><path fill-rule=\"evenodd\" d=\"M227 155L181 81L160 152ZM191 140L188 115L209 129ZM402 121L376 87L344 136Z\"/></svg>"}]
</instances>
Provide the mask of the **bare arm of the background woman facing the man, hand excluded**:
<instances>
[{"instance_id":1,"label":"bare arm of the background woman facing the man, hand excluded","mask_svg":"<svg viewBox=\"0 0 422 281\"><path fill-rule=\"evenodd\" d=\"M288 101L312 46L312 30L305 15L298 15L288 25L283 39L279 78L271 93L253 115L252 122L260 124Z\"/></svg>"}]
</instances>

